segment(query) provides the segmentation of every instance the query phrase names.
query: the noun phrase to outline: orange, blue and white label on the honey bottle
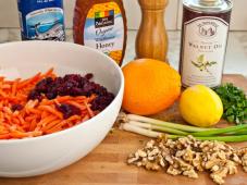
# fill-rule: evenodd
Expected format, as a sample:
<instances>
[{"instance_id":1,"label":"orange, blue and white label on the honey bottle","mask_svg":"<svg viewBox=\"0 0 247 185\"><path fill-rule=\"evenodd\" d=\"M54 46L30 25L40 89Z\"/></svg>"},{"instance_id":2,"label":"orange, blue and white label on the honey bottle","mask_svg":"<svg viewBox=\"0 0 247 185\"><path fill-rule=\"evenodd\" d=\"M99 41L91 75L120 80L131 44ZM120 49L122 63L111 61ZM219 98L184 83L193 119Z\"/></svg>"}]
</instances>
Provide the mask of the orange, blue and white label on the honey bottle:
<instances>
[{"instance_id":1,"label":"orange, blue and white label on the honey bottle","mask_svg":"<svg viewBox=\"0 0 247 185\"><path fill-rule=\"evenodd\" d=\"M118 63L124 47L124 23L115 2L95 4L88 12L84 45L102 51Z\"/></svg>"}]
</instances>

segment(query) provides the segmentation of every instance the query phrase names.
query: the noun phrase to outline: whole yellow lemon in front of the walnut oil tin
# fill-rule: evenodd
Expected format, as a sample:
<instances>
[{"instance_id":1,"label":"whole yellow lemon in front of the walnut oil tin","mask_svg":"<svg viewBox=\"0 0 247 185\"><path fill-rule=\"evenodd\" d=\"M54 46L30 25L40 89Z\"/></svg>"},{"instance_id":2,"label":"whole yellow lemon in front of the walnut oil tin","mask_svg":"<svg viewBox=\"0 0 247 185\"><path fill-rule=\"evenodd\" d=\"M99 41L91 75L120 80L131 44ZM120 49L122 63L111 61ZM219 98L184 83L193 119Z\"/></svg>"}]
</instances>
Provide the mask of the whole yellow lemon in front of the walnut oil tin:
<instances>
[{"instance_id":1,"label":"whole yellow lemon in front of the walnut oil tin","mask_svg":"<svg viewBox=\"0 0 247 185\"><path fill-rule=\"evenodd\" d=\"M196 85L182 94L180 111L186 122L199 127L209 127L221 120L223 104L212 89Z\"/></svg>"}]
</instances>

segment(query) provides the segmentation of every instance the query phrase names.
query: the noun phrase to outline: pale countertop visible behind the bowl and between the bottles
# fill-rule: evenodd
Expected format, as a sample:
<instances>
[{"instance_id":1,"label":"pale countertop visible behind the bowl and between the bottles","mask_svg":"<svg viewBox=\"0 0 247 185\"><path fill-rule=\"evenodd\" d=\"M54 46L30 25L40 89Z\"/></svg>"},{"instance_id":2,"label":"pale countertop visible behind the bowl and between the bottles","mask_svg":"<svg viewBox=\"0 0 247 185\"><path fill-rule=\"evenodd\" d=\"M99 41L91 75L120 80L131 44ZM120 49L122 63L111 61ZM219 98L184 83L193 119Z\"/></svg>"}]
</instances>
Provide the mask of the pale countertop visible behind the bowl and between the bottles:
<instances>
[{"instance_id":1,"label":"pale countertop visible behind the bowl and between the bottles","mask_svg":"<svg viewBox=\"0 0 247 185\"><path fill-rule=\"evenodd\" d=\"M73 32L66 30L66 40L73 41ZM168 32L169 62L178 67L181 32ZM124 64L135 58L136 30L128 30L128 40ZM0 28L0 44L21 40L18 28ZM225 74L243 74L247 76L247 32L231 32L224 66Z\"/></svg>"}]
</instances>

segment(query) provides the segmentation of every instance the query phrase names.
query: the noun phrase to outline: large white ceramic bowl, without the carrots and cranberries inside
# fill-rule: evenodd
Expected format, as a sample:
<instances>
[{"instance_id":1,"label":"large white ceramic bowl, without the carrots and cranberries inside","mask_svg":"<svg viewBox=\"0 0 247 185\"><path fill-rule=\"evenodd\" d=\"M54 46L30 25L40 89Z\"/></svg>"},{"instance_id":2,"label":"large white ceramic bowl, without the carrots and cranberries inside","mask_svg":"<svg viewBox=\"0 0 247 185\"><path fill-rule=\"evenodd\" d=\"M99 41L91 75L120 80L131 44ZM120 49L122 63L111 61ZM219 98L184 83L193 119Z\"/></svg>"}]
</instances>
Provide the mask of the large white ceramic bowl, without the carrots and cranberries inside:
<instances>
[{"instance_id":1,"label":"large white ceramic bowl, without the carrots and cranberries inside","mask_svg":"<svg viewBox=\"0 0 247 185\"><path fill-rule=\"evenodd\" d=\"M24 177L49 173L85 157L102 141L121 108L124 77L109 57L67 42L26 41L0 45L0 70L17 69L22 77L54 67L59 75L94 73L115 95L113 102L89 121L55 134L0 140L0 176Z\"/></svg>"}]
</instances>

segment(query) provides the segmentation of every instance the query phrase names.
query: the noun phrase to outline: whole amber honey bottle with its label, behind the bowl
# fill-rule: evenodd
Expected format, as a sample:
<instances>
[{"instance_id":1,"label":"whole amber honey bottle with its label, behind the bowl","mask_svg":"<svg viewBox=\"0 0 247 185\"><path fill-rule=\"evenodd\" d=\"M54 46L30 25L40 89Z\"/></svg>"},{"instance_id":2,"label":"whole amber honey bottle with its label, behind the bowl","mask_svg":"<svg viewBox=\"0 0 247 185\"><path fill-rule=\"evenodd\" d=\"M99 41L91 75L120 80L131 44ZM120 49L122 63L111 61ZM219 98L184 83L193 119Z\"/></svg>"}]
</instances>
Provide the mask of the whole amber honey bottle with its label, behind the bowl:
<instances>
[{"instance_id":1,"label":"whole amber honey bottle with its label, behind the bowl","mask_svg":"<svg viewBox=\"0 0 247 185\"><path fill-rule=\"evenodd\" d=\"M95 48L122 64L127 39L122 0L77 0L74 42Z\"/></svg>"}]
</instances>

